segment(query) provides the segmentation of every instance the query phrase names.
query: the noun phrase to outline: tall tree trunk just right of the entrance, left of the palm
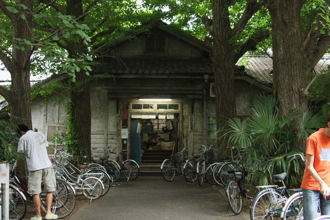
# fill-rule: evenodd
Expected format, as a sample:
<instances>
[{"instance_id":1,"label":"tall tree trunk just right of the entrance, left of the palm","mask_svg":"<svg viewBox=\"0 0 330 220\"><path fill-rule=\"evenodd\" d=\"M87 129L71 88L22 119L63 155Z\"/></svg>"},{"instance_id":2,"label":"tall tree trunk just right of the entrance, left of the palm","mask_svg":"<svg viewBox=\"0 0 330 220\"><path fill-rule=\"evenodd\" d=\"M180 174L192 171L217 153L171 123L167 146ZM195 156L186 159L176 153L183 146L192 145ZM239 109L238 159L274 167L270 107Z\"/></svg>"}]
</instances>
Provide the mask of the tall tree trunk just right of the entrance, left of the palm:
<instances>
[{"instance_id":1,"label":"tall tree trunk just right of the entrance, left of the palm","mask_svg":"<svg viewBox=\"0 0 330 220\"><path fill-rule=\"evenodd\" d=\"M234 48L230 39L230 21L226 1L215 1L213 5L213 48L211 60L214 65L216 127L221 129L229 118L236 116L234 96ZM227 141L217 134L218 157L226 155Z\"/></svg>"}]
</instances>

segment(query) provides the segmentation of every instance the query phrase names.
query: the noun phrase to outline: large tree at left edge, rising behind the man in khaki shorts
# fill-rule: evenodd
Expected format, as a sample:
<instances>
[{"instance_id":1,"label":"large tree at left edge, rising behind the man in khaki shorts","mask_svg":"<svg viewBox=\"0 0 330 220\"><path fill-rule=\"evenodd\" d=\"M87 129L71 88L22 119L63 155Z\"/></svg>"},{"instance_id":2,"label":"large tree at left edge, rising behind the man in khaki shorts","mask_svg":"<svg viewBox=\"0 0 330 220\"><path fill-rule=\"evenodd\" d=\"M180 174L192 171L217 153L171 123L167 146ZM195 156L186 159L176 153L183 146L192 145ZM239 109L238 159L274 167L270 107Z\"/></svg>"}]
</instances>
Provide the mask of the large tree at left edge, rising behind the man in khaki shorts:
<instances>
[{"instance_id":1,"label":"large tree at left edge, rising behind the man in khaki shorts","mask_svg":"<svg viewBox=\"0 0 330 220\"><path fill-rule=\"evenodd\" d=\"M0 94L11 106L11 121L14 124L26 124L32 127L30 94L30 57L32 49L24 44L32 38L33 1L19 1L15 7L6 1L0 1L3 41L0 45L0 60L11 74L12 84L8 90L0 86ZM6 22L8 21L8 22ZM8 25L10 24L10 25ZM10 31L11 30L11 31ZM4 40L5 39L5 40ZM23 43L23 44L22 44Z\"/></svg>"}]
</instances>

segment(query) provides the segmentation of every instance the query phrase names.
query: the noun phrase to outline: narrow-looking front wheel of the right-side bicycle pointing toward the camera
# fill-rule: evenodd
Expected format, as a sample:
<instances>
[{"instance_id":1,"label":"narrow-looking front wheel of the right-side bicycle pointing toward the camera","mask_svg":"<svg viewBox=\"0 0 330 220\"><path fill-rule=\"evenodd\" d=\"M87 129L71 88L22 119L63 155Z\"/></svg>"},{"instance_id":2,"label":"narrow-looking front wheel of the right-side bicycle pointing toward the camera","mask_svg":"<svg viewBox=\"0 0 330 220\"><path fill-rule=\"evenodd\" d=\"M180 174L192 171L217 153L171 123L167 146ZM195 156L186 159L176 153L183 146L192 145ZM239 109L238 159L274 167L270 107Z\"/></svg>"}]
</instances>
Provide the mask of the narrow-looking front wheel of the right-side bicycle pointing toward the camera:
<instances>
[{"instance_id":1,"label":"narrow-looking front wheel of the right-side bicycle pointing toward the camera","mask_svg":"<svg viewBox=\"0 0 330 220\"><path fill-rule=\"evenodd\" d=\"M230 209L234 214L238 215L243 209L243 196L235 180L231 179L227 181L226 195Z\"/></svg>"}]
</instances>

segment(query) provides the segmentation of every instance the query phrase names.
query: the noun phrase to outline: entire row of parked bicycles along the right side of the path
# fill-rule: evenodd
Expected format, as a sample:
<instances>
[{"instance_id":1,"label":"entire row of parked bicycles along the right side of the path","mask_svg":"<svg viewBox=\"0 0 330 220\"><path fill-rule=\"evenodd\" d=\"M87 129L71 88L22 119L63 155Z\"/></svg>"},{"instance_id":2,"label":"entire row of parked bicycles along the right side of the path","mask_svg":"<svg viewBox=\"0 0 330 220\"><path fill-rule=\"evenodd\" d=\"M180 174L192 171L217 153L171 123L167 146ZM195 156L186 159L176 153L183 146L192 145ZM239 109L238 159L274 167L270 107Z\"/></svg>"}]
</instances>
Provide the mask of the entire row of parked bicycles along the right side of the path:
<instances>
[{"instance_id":1,"label":"entire row of parked bicycles along the right side of the path","mask_svg":"<svg viewBox=\"0 0 330 220\"><path fill-rule=\"evenodd\" d=\"M184 176L189 183L203 182L225 186L225 192L230 209L234 214L243 210L244 197L250 205L251 220L255 219L303 219L302 191L301 188L289 189L284 183L287 173L272 175L272 180L277 185L255 186L258 192L248 195L245 182L249 170L240 163L240 149L236 150L235 157L222 158L223 162L214 163L214 152L212 146L201 145L201 155L188 159L185 156L186 148L175 153L170 159L164 160L161 165L162 176L165 181L171 182L176 173ZM233 155L233 154L232 154ZM294 153L286 157L289 165L292 160L304 157L300 153ZM280 158L279 158L280 159ZM319 211L320 212L320 211Z\"/></svg>"}]
</instances>

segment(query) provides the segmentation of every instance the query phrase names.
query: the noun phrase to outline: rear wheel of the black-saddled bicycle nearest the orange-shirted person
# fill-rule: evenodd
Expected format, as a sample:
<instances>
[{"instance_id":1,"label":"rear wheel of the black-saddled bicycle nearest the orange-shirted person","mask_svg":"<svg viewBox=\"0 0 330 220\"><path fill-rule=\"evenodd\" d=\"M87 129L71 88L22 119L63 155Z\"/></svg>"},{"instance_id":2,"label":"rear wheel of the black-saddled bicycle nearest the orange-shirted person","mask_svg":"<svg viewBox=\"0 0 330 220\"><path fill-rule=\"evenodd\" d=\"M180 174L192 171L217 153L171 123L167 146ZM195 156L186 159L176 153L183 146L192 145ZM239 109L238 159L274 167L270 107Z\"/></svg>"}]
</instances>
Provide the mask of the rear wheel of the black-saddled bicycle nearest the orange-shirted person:
<instances>
[{"instance_id":1,"label":"rear wheel of the black-saddled bicycle nearest the orange-shirted person","mask_svg":"<svg viewBox=\"0 0 330 220\"><path fill-rule=\"evenodd\" d=\"M280 217L282 203L285 201L287 201L287 197L278 189L269 188L260 191L250 208L251 220Z\"/></svg>"}]
</instances>

